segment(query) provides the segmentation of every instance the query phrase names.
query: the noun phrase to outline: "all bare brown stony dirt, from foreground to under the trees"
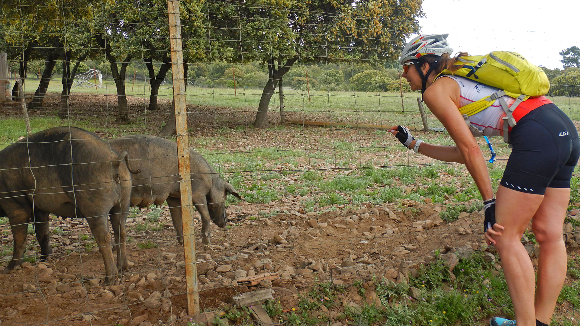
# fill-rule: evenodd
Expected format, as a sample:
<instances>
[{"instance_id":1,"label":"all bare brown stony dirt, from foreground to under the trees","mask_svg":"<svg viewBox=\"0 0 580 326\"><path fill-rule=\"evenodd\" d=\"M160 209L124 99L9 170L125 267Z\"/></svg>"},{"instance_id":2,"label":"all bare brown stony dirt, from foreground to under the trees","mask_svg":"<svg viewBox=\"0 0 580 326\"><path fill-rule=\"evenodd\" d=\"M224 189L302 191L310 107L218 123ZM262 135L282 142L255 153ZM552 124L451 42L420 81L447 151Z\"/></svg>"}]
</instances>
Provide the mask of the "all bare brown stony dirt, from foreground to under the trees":
<instances>
[{"instance_id":1,"label":"all bare brown stony dirt, from foreground to under the trees","mask_svg":"<svg viewBox=\"0 0 580 326\"><path fill-rule=\"evenodd\" d=\"M147 127L135 126L132 129L133 126L129 125L124 133L155 133L168 117L171 100L160 99L157 113L147 113L144 100L148 99L129 97L129 113L132 119L144 119ZM58 95L48 95L46 108L31 110L29 114L31 117L53 115L58 101ZM115 96L74 95L71 96L71 115L81 119L108 116L108 112L115 110L115 101ZM248 126L255 114L251 113L254 108L245 111L224 107L188 108L192 112L189 115L190 136L212 135L223 126L232 129ZM20 114L18 106L3 104L0 107L2 117L20 117ZM324 114L295 115L288 119L325 119ZM103 131L97 131L97 134L103 137L120 135L121 132L111 131L110 128L116 126L112 120L100 119L99 128ZM271 123L278 120L271 113ZM220 140L223 143L209 144L208 147L228 151L276 143L280 147L296 149L298 137L305 132L313 137L336 137L335 130L317 127L286 126L269 133L244 130ZM340 137L364 145L380 136L351 129L341 130ZM395 144L392 139L385 142ZM306 146L308 148L308 144ZM381 158L384 153L366 155ZM409 154L404 153L390 157L390 164L393 162L423 164L429 161L419 155L409 158ZM356 165L344 169L314 159L301 164L296 168L320 169L325 171L325 178L360 173ZM271 169L284 168L290 169L283 162L271 162ZM287 173L284 178L298 181L299 174L298 171ZM442 178L445 180L451 176ZM407 189L414 190L416 187L413 186ZM447 224L439 217L441 205L432 204L429 198L425 198L421 202L401 200L377 206L368 203L362 203L360 207L333 205L331 210L307 212L305 203L311 199L309 195L285 194L279 201L267 204L242 201L230 205L227 208L229 228L219 229L212 224L209 247L202 245L195 235L197 286L202 311L223 310L234 304L233 296L264 288L273 289L274 299L283 309L296 308L298 295L321 281L331 281L336 285L364 281L369 298L361 298L356 289L349 288L337 299L338 306L370 304L378 300L372 291L373 277L402 281L418 273L423 262L432 260L436 249L443 253L450 268L458 259L474 251L494 251L483 241L483 218L477 211L462 213L458 220ZM132 264L113 285L103 284L103 261L91 241L86 221L55 217L50 224L51 241L55 245L52 259L49 262L25 262L23 267L9 274L0 274L0 325L187 325L193 317L187 314L183 246L176 241L166 208L158 220L163 225L161 230L137 228L143 225L150 213L150 209L143 209L128 219L131 241L127 248ZM195 230L200 230L197 212L194 218ZM0 224L0 245L4 247L12 245L9 230L8 225ZM567 237L569 250L578 254L580 230L572 228L568 231L571 235ZM33 248L27 255L34 255L38 248L33 235L29 236L29 241ZM524 244L535 261L538 248L531 242ZM2 263L2 266L6 265L6 262ZM0 271L3 268L0 267ZM333 322L347 323L339 310L324 313ZM580 318L578 313L574 316Z\"/></svg>"}]
</instances>

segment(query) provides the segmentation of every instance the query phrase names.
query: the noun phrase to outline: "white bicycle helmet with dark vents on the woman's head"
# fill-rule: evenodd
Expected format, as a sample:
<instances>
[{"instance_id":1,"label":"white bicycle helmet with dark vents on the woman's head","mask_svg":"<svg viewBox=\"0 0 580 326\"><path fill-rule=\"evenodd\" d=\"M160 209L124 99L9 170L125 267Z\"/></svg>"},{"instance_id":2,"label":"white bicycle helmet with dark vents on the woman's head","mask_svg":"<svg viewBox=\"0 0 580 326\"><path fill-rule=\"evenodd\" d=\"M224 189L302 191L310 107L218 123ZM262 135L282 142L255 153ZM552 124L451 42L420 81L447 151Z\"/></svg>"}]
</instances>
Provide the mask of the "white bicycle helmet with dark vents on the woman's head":
<instances>
[{"instance_id":1,"label":"white bicycle helmet with dark vents on the woman's head","mask_svg":"<svg viewBox=\"0 0 580 326\"><path fill-rule=\"evenodd\" d=\"M442 56L444 53L451 55L453 49L447 43L449 34L422 34L411 39L401 52L399 64L407 60L416 60L425 55Z\"/></svg>"}]
</instances>

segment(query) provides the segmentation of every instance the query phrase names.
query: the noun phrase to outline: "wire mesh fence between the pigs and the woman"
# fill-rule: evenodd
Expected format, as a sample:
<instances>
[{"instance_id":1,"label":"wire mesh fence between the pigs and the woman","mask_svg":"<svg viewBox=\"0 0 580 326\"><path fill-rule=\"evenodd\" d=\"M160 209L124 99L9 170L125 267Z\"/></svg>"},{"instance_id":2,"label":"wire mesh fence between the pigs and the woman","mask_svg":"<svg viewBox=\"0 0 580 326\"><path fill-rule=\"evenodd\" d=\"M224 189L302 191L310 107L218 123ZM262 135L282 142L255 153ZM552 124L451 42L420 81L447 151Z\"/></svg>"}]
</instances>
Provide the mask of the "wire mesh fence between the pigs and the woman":
<instances>
[{"instance_id":1,"label":"wire mesh fence between the pigs and the woman","mask_svg":"<svg viewBox=\"0 0 580 326\"><path fill-rule=\"evenodd\" d=\"M495 266L465 167L404 150L386 131L452 144L401 78L420 1L179 5L195 206L185 223L205 314L188 311L167 2L24 2L3 4L0 24L2 325L189 325L219 311L245 323L232 307L260 289L274 292L270 310L288 312L273 323L299 324L288 316L300 309L347 323L366 305L393 306L385 284L420 289L426 263L443 261L454 278L472 255ZM577 122L577 71L549 77L550 99ZM44 138L13 144L27 136L23 109ZM509 148L494 147L496 185ZM575 173L571 251L578 185ZM536 258L533 234L523 242ZM306 304L321 284L358 291Z\"/></svg>"}]
</instances>

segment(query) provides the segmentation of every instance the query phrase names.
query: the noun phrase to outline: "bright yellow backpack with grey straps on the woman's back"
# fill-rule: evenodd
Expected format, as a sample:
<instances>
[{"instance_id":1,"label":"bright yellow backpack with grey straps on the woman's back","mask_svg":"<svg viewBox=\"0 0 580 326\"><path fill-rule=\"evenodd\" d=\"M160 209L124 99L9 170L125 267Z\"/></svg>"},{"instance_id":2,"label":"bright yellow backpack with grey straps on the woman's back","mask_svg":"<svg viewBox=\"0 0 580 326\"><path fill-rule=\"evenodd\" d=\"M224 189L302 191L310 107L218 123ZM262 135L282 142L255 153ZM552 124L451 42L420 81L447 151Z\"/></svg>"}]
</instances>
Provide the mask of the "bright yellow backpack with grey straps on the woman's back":
<instances>
[{"instance_id":1,"label":"bright yellow backpack with grey straps on the woman's back","mask_svg":"<svg viewBox=\"0 0 580 326\"><path fill-rule=\"evenodd\" d=\"M513 110L529 97L538 97L548 93L550 82L542 68L536 67L519 53L511 51L494 51L485 56L459 57L457 63L462 66L458 70L443 70L441 75L459 75L480 82L481 84L499 88L500 91L459 108L463 115L473 115L488 108L499 98L506 113L504 118L503 138L507 143L507 125L513 127L516 121L512 117ZM501 97L507 95L516 99L511 107ZM507 122L507 123L506 123Z\"/></svg>"}]
</instances>

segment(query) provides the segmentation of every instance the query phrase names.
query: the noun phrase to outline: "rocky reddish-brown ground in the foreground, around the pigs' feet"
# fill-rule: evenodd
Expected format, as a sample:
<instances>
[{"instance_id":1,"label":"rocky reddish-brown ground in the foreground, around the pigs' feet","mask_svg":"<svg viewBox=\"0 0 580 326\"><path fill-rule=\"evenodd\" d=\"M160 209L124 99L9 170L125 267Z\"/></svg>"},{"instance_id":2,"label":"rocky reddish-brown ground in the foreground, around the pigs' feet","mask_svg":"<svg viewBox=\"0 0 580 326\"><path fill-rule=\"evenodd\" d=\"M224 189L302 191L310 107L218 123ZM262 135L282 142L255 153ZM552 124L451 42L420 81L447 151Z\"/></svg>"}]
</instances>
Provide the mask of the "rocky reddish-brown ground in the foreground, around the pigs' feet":
<instances>
[{"instance_id":1,"label":"rocky reddish-brown ground in the foreground, around the pigs' feet","mask_svg":"<svg viewBox=\"0 0 580 326\"><path fill-rule=\"evenodd\" d=\"M462 213L447 224L438 217L440 205L405 200L400 205L363 204L357 209L338 206L317 215L300 209L301 199L285 197L298 209L268 218L258 216L270 205L241 202L228 208L230 229L212 226L212 244L206 247L200 242L197 251L203 310L223 309L232 304L234 295L260 288L273 289L274 298L291 308L300 291L314 282L351 284L372 277L401 281L418 273L436 249L450 267L476 250L495 260L493 248L482 240L479 212ZM129 219L129 229L142 223L146 213ZM104 285L100 254L90 248L90 237L83 236L90 235L86 222L53 219L52 231L70 231L66 236L52 235L53 259L25 262L9 274L0 274L2 325L187 324L183 247L175 240L168 212L159 222L164 229L129 232L131 267L114 285ZM195 227L199 230L201 223L195 222ZM568 247L577 248L580 228L567 224L564 231ZM0 244L9 244L12 235L2 234ZM534 257L535 245L528 241L525 247ZM366 299L353 292L343 300L353 306ZM340 321L342 312L327 313Z\"/></svg>"}]
</instances>

